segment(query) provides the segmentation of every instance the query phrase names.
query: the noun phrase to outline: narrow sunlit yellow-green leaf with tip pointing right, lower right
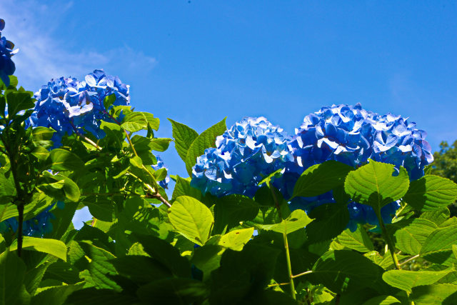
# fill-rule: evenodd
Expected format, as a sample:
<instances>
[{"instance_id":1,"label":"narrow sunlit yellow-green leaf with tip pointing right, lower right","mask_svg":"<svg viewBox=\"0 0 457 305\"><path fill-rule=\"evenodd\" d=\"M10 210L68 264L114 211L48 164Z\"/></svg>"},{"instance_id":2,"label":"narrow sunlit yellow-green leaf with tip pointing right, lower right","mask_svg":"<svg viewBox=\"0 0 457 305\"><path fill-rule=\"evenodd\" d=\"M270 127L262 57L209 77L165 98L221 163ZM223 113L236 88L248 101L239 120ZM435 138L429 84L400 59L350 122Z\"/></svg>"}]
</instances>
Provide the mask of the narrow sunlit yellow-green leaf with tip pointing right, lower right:
<instances>
[{"instance_id":1,"label":"narrow sunlit yellow-green leaf with tip pointing right, lower right","mask_svg":"<svg viewBox=\"0 0 457 305\"><path fill-rule=\"evenodd\" d=\"M413 287L434 284L452 271L453 268L443 271L389 270L384 272L383 280L393 287L411 293Z\"/></svg>"}]
</instances>

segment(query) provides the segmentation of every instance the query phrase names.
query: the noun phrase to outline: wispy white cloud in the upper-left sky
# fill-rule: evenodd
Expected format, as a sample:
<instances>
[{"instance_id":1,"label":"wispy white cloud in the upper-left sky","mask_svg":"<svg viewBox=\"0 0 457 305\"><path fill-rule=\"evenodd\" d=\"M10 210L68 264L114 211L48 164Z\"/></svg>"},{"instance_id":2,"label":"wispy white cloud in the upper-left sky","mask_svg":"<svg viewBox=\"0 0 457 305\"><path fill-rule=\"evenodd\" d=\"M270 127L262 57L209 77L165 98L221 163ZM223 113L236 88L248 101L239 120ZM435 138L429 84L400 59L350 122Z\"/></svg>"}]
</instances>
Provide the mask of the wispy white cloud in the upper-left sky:
<instances>
[{"instance_id":1,"label":"wispy white cloud in the upper-left sky","mask_svg":"<svg viewBox=\"0 0 457 305\"><path fill-rule=\"evenodd\" d=\"M14 56L15 75L26 89L38 89L60 76L81 77L94 69L149 71L156 66L154 57L129 46L101 52L78 44L81 49L75 49L64 37L57 37L56 29L66 22L72 6L69 1L56 11L52 4L36 0L1 0L0 18L6 21L4 36L19 48Z\"/></svg>"}]
</instances>

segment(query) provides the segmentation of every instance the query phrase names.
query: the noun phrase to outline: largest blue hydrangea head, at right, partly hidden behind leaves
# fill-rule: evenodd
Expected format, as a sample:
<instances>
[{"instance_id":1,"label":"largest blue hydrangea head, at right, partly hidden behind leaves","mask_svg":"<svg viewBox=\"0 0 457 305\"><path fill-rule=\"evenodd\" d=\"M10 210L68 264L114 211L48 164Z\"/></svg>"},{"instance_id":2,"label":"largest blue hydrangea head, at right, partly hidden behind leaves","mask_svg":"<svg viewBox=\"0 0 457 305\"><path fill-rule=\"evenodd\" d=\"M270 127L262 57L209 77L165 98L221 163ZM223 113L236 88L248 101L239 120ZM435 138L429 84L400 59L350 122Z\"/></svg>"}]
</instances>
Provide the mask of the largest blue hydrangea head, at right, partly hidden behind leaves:
<instances>
[{"instance_id":1,"label":"largest blue hydrangea head, at right, partly hidden behind leaves","mask_svg":"<svg viewBox=\"0 0 457 305\"><path fill-rule=\"evenodd\" d=\"M303 170L327 160L341 161L358 167L368 159L404 166L411 180L421 178L426 165L433 162L431 146L425 140L426 132L401 116L379 115L356 106L333 105L323 107L303 120L296 136L290 142L296 165ZM290 171L297 171L293 169ZM313 207L331 202L328 194L313 199L296 199L293 206L310 211ZM399 205L392 202L381 209L383 221L391 222ZM370 206L351 202L348 205L351 221L356 224L378 224Z\"/></svg>"}]
</instances>

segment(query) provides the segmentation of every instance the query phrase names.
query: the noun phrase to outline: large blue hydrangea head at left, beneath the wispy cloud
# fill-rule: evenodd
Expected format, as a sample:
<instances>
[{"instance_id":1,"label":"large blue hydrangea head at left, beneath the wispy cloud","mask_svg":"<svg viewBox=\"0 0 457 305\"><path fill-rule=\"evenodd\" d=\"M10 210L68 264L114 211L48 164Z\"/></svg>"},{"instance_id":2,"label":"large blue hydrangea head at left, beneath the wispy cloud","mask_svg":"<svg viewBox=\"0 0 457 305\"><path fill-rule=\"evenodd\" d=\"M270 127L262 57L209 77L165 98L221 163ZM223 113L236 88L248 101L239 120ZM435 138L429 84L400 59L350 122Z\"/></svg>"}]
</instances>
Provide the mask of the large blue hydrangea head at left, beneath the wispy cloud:
<instances>
[{"instance_id":1,"label":"large blue hydrangea head at left, beneath the wispy cloud","mask_svg":"<svg viewBox=\"0 0 457 305\"><path fill-rule=\"evenodd\" d=\"M95 70L84 81L73 78L51 79L36 92L35 111L30 117L31 126L51 127L56 131L52 141L59 146L65 134L91 132L101 138L100 120L108 120L104 99L115 94L114 105L128 105L129 85L117 76Z\"/></svg>"}]
</instances>

